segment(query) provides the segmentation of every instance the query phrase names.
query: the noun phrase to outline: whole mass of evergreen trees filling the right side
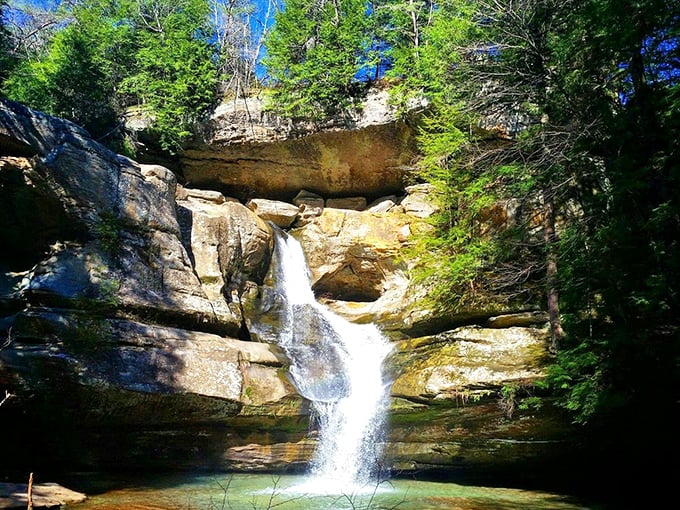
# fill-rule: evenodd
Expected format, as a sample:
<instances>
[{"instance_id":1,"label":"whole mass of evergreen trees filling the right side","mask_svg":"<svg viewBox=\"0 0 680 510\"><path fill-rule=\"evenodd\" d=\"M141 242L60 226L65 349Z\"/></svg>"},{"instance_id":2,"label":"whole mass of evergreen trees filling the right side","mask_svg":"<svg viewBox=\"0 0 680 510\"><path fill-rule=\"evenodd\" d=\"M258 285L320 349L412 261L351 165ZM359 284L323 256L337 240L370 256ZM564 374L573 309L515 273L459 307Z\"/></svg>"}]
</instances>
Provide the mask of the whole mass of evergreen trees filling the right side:
<instances>
[{"instance_id":1,"label":"whole mass of evergreen trees filling the right side","mask_svg":"<svg viewBox=\"0 0 680 510\"><path fill-rule=\"evenodd\" d=\"M455 306L480 288L521 297L540 285L549 381L582 423L652 394L667 417L677 401L666 388L678 387L680 345L678 10L440 2L421 32L427 64L404 73L432 105L421 146L445 197L429 241L439 295ZM510 197L531 221L480 239L485 208Z\"/></svg>"}]
</instances>

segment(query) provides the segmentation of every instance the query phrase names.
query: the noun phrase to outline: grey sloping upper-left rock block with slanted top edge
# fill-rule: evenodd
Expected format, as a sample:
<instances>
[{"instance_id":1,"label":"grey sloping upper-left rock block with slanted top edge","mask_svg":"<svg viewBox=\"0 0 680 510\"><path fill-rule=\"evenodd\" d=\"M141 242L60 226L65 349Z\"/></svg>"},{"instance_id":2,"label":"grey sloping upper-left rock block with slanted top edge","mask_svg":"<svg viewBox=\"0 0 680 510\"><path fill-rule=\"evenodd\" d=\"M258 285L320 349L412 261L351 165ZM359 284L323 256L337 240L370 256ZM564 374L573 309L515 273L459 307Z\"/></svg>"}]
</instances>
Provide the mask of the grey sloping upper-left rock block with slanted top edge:
<instances>
[{"instance_id":1,"label":"grey sloping upper-left rock block with slanted top edge","mask_svg":"<svg viewBox=\"0 0 680 510\"><path fill-rule=\"evenodd\" d=\"M0 132L10 150L21 146L35 154L18 166L3 163L6 194L36 206L10 202L19 205L12 217L22 219L9 222L5 233L23 245L32 230L42 232L27 241L26 257L7 259L15 272L27 271L22 299L75 307L98 303L139 315L166 313L185 324L218 323L180 239L177 183L170 171L139 165L74 124L10 101L0 103ZM23 230L28 222L34 229ZM224 319L220 327L235 333L240 319Z\"/></svg>"}]
</instances>

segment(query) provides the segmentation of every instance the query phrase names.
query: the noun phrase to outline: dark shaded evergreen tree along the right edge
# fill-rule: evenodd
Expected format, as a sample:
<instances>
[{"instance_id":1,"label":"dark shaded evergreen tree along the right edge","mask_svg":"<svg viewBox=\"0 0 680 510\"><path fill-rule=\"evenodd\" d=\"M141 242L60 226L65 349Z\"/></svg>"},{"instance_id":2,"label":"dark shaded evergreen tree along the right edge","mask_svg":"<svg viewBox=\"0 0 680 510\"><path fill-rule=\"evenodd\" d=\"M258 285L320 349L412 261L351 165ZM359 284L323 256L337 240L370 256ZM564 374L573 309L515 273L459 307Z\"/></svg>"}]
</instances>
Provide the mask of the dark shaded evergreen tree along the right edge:
<instances>
[{"instance_id":1,"label":"dark shaded evergreen tree along the right edge","mask_svg":"<svg viewBox=\"0 0 680 510\"><path fill-rule=\"evenodd\" d=\"M680 287L678 20L673 2L582 2L565 41L580 72L566 84L593 128L581 221L563 240L573 332L554 367L580 421L653 406L672 423ZM564 50L566 52L566 48ZM641 417L642 418L642 417ZM659 428L660 434L663 427Z\"/></svg>"}]
</instances>

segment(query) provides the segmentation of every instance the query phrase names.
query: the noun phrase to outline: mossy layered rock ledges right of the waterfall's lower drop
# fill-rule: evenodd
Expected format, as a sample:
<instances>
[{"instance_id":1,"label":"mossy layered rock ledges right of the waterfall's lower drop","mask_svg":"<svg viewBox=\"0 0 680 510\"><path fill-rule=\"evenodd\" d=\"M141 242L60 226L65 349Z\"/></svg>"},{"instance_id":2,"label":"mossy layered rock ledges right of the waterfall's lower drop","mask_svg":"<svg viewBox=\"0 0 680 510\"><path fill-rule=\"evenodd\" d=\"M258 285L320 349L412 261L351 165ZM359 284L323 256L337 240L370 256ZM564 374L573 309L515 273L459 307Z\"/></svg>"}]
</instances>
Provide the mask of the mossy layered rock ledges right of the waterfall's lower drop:
<instances>
[{"instance_id":1,"label":"mossy layered rock ledges right of the waterfall's lower drop","mask_svg":"<svg viewBox=\"0 0 680 510\"><path fill-rule=\"evenodd\" d=\"M578 428L537 398L548 341L547 328L465 326L397 342L385 461L489 474L570 458Z\"/></svg>"}]
</instances>

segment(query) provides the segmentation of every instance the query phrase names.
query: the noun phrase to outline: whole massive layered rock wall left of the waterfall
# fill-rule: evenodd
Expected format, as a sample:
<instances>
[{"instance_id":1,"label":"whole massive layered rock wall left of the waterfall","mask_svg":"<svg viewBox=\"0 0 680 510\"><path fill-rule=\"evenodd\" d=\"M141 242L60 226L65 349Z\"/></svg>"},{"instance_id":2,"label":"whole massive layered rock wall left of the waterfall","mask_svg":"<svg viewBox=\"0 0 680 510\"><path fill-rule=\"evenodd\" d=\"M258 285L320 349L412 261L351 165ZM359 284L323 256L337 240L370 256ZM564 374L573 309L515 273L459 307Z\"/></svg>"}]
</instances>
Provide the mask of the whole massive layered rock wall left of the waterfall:
<instances>
[{"instance_id":1,"label":"whole massive layered rock wall left of the waterfall","mask_svg":"<svg viewBox=\"0 0 680 510\"><path fill-rule=\"evenodd\" d=\"M301 439L285 354L244 341L271 255L261 218L5 100L0 144L12 469L224 467L233 446Z\"/></svg>"}]
</instances>

